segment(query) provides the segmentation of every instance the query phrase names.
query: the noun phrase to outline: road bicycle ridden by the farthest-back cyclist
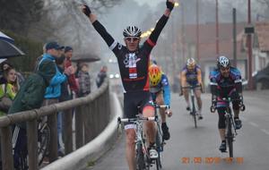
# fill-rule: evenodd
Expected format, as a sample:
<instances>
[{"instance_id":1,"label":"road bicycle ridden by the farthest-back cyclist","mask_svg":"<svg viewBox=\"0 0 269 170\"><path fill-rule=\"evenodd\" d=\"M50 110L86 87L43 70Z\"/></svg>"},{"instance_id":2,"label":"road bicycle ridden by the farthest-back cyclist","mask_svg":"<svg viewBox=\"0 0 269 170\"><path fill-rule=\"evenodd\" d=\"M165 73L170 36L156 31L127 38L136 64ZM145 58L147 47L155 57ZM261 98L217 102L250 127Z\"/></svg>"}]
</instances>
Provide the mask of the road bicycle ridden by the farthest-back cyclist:
<instances>
[{"instance_id":1,"label":"road bicycle ridden by the farthest-back cyclist","mask_svg":"<svg viewBox=\"0 0 269 170\"><path fill-rule=\"evenodd\" d=\"M189 89L189 95L191 97L191 110L190 110L190 115L193 116L194 118L194 123L195 123L195 128L197 128L197 109L196 109L196 106L195 106L195 89L196 88L201 88L202 90L202 87L201 85L189 85L187 87L182 87L182 89Z\"/></svg>"}]
</instances>

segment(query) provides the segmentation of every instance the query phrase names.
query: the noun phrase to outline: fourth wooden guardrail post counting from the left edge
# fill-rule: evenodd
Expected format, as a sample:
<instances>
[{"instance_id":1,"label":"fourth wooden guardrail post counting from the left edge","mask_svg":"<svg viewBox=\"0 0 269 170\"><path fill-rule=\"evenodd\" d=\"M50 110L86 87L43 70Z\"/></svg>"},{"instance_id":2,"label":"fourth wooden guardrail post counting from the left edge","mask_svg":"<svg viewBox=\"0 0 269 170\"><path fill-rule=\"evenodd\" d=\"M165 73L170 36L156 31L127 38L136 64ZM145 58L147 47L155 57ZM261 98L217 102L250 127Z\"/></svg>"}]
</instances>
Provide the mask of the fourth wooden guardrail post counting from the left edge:
<instances>
[{"instance_id":1,"label":"fourth wooden guardrail post counting from the left edge","mask_svg":"<svg viewBox=\"0 0 269 170\"><path fill-rule=\"evenodd\" d=\"M65 155L73 152L72 114L73 109L68 109L63 114L63 139L65 142Z\"/></svg>"}]
</instances>

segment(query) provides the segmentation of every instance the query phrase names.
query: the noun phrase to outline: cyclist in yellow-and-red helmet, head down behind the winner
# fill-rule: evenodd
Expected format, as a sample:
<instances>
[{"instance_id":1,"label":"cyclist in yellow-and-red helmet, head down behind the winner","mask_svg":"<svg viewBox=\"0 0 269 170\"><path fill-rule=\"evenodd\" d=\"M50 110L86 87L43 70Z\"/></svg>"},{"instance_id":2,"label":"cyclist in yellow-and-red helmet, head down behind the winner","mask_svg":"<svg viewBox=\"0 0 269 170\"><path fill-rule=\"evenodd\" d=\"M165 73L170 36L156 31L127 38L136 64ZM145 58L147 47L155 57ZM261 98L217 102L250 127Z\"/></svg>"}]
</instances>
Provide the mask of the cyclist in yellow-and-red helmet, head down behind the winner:
<instances>
[{"instance_id":1,"label":"cyclist in yellow-and-red helmet, head down behind the winner","mask_svg":"<svg viewBox=\"0 0 269 170\"><path fill-rule=\"evenodd\" d=\"M157 64L152 64L149 67L150 77L150 91L152 93L152 99L156 101L157 105L170 106L170 88L168 77L161 72L161 68ZM166 123L166 115L171 116L171 110L160 108L161 115L161 130L163 132L163 140L169 140L169 127Z\"/></svg>"}]
</instances>

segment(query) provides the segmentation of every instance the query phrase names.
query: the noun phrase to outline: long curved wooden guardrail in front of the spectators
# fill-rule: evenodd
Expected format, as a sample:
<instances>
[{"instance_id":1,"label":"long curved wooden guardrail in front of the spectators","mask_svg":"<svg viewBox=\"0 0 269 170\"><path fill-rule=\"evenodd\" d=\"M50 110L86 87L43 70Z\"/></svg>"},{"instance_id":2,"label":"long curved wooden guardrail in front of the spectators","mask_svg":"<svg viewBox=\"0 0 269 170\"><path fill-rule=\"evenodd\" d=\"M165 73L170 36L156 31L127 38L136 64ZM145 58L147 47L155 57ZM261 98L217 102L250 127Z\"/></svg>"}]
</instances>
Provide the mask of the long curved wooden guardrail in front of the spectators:
<instances>
[{"instance_id":1,"label":"long curved wooden guardrail in front of the spectators","mask_svg":"<svg viewBox=\"0 0 269 170\"><path fill-rule=\"evenodd\" d=\"M24 111L13 115L0 117L1 149L3 169L13 170L13 149L11 126L15 123L27 123L27 140L29 154L29 169L37 170L38 157L38 123L41 116L48 116L50 127L50 142L48 147L49 162L57 159L57 121L56 114L63 111L63 133L65 143L65 154L74 151L73 144L73 110L75 110L75 149L93 140L108 124L109 89L108 79L101 85L100 89L92 92L84 98L75 98L39 109Z\"/></svg>"}]
</instances>

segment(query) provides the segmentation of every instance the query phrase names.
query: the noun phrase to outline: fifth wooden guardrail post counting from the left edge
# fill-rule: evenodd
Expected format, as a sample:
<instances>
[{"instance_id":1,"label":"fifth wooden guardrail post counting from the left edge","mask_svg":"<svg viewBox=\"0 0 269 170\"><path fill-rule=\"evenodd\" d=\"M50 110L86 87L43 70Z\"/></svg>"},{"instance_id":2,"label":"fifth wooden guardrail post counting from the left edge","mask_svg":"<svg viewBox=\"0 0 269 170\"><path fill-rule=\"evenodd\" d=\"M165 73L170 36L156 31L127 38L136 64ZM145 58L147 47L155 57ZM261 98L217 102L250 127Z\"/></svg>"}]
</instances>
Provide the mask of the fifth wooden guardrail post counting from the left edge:
<instances>
[{"instance_id":1,"label":"fifth wooden guardrail post counting from the left edge","mask_svg":"<svg viewBox=\"0 0 269 170\"><path fill-rule=\"evenodd\" d=\"M75 146L79 149L83 146L83 116L82 106L75 108Z\"/></svg>"}]
</instances>

